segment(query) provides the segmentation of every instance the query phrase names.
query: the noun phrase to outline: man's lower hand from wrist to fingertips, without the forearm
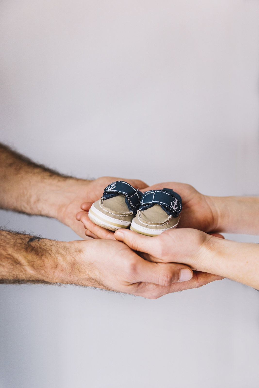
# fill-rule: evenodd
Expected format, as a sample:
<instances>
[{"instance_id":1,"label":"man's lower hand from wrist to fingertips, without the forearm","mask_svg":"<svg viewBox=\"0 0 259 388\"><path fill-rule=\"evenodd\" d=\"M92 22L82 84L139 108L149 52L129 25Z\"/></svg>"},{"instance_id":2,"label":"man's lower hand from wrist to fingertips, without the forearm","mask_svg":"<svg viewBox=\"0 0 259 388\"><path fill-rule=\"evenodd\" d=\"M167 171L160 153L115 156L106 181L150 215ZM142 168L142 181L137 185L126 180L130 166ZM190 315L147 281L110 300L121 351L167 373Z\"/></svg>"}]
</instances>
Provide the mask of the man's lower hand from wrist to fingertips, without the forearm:
<instances>
[{"instance_id":1,"label":"man's lower hand from wrist to fingertips, without the forearm","mask_svg":"<svg viewBox=\"0 0 259 388\"><path fill-rule=\"evenodd\" d=\"M71 267L75 268L75 274L70 271L75 284L156 299L219 279L215 275L193 273L185 264L144 260L118 241L98 239L74 243L79 252L71 262Z\"/></svg>"}]
</instances>

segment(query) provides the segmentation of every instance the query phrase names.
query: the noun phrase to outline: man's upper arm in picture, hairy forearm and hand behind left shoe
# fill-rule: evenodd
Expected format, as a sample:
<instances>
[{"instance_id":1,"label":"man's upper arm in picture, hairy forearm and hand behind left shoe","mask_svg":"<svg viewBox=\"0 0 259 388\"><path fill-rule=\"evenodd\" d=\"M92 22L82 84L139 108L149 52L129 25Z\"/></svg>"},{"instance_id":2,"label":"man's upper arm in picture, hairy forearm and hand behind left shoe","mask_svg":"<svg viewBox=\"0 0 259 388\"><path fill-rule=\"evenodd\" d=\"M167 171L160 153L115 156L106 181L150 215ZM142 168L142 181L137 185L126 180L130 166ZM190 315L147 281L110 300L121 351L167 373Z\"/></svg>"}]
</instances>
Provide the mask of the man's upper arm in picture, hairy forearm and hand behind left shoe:
<instances>
[{"instance_id":1,"label":"man's upper arm in picture, hairy forearm and hand behind left shoe","mask_svg":"<svg viewBox=\"0 0 259 388\"><path fill-rule=\"evenodd\" d=\"M76 179L38 165L0 143L0 208L19 213L57 218L85 238L85 229L75 215L89 210L101 198L104 188L122 178ZM141 180L123 179L144 189Z\"/></svg>"}]
</instances>

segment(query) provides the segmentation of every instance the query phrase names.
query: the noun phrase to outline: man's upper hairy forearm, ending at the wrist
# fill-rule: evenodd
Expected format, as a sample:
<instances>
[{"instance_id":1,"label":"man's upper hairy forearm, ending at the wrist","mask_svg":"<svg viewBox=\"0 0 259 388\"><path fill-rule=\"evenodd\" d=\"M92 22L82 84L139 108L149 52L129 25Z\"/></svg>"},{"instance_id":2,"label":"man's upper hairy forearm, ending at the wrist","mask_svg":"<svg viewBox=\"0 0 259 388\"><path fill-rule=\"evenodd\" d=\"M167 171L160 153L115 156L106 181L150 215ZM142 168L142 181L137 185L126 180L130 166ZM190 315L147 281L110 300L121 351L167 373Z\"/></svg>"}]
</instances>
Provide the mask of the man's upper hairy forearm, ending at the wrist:
<instances>
[{"instance_id":1,"label":"man's upper hairy forearm, ending at the wrist","mask_svg":"<svg viewBox=\"0 0 259 388\"><path fill-rule=\"evenodd\" d=\"M0 144L0 208L57 218L61 202L86 183L57 173Z\"/></svg>"}]
</instances>

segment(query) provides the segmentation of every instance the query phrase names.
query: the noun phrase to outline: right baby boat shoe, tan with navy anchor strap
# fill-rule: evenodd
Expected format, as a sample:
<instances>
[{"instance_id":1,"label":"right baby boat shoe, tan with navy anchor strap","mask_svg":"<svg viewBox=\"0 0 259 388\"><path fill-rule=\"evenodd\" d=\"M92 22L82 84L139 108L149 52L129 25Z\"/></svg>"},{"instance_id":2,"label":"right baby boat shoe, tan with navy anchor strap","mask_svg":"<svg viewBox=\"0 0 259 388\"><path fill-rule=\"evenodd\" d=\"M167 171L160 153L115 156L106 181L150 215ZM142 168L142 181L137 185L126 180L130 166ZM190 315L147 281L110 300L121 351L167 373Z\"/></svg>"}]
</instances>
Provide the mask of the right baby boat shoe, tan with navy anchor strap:
<instances>
[{"instance_id":1,"label":"right baby boat shoe, tan with navy anchor strap","mask_svg":"<svg viewBox=\"0 0 259 388\"><path fill-rule=\"evenodd\" d=\"M144 192L130 229L146 236L158 236L164 230L176 228L182 210L182 199L171 189Z\"/></svg>"}]
</instances>

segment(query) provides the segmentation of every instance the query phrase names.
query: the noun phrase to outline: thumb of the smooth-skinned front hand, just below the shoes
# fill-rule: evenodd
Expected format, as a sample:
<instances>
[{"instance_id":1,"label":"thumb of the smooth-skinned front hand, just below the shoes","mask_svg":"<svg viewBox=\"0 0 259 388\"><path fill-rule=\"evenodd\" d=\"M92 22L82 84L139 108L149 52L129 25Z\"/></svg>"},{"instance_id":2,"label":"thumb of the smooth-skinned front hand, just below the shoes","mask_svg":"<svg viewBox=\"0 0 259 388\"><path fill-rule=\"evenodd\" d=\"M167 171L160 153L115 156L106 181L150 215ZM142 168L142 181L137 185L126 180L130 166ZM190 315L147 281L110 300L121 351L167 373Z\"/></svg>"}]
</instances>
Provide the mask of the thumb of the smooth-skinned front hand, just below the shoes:
<instances>
[{"instance_id":1,"label":"thumb of the smooth-skinned front hand, just below the shoes","mask_svg":"<svg viewBox=\"0 0 259 388\"><path fill-rule=\"evenodd\" d=\"M156 237L148 237L143 234L134 232L128 229L118 229L114 233L114 237L118 241L122 241L129 246L133 251L140 251L154 254L154 249L158 248L158 241Z\"/></svg>"}]
</instances>

